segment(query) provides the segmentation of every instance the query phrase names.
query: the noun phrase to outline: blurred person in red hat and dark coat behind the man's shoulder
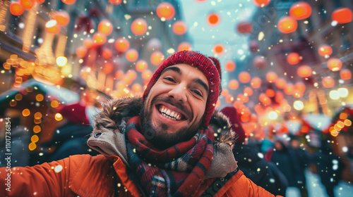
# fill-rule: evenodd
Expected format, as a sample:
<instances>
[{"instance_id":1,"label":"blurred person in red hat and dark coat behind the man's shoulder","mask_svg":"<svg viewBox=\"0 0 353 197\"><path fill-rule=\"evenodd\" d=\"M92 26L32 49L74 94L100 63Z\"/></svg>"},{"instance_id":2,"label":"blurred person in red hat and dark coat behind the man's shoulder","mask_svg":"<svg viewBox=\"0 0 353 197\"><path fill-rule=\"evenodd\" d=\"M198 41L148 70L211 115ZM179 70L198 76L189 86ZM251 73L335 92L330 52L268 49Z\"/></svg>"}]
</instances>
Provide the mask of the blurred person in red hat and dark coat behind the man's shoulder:
<instances>
[{"instance_id":1,"label":"blurred person in red hat and dark coat behind the man's shoulder","mask_svg":"<svg viewBox=\"0 0 353 197\"><path fill-rule=\"evenodd\" d=\"M251 179L258 186L263 187L270 193L285 196L287 189L287 179L280 170L272 163L263 158L263 153L258 148L246 144L246 134L237 109L228 106L222 108L220 113L229 118L232 130L236 132L236 141L234 142L234 158L237 160L239 170L244 172L245 176Z\"/></svg>"}]
</instances>

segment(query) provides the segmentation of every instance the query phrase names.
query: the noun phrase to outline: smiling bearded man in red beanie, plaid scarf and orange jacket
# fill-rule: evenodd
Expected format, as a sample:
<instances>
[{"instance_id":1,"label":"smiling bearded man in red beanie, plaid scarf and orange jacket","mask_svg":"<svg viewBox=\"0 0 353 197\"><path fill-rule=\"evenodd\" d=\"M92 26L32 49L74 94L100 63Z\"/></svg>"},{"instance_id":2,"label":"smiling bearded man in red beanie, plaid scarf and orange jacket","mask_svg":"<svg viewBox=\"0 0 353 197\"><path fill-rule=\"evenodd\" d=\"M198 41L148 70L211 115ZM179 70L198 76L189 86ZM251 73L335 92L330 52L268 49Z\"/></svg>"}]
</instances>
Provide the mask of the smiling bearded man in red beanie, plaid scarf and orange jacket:
<instances>
[{"instance_id":1,"label":"smiling bearded man in red beanie, plaid scarf and orange jacket","mask_svg":"<svg viewBox=\"0 0 353 197\"><path fill-rule=\"evenodd\" d=\"M1 196L273 196L236 169L232 132L208 127L218 70L201 53L174 53L152 76L140 115L138 98L104 105L88 141L102 155L11 168L9 176L3 168L0 182L11 184L0 183Z\"/></svg>"}]
</instances>

